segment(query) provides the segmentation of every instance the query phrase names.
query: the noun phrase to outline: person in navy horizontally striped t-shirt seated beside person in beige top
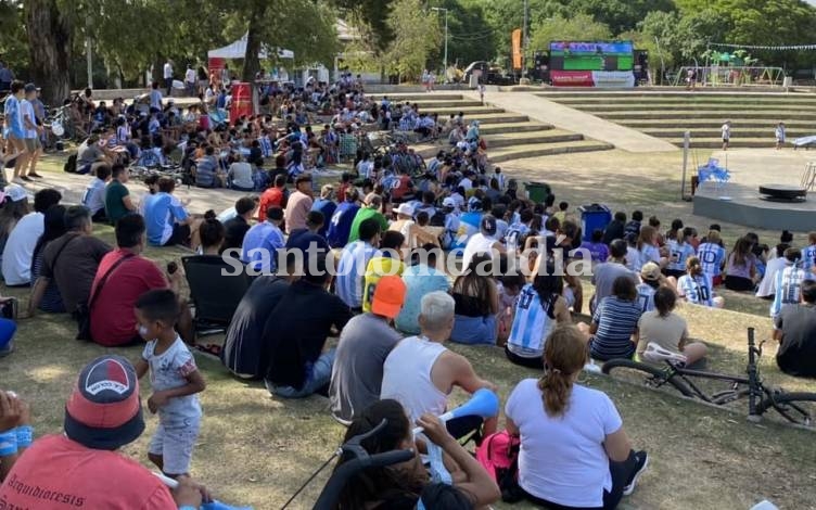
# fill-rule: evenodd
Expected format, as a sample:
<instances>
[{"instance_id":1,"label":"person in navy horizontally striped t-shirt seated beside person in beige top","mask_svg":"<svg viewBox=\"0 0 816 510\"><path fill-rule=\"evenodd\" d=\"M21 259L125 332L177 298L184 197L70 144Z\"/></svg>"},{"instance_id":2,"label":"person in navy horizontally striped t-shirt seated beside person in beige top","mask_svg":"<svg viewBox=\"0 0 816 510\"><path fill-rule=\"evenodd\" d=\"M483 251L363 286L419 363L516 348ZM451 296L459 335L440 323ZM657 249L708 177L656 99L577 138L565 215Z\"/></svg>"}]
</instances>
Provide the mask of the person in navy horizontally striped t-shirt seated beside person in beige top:
<instances>
[{"instance_id":1,"label":"person in navy horizontally striped t-shirt seated beside person in beige top","mask_svg":"<svg viewBox=\"0 0 816 510\"><path fill-rule=\"evenodd\" d=\"M578 323L578 329L589 337L592 358L608 361L632 358L637 346L637 323L642 314L638 293L630 277L617 277L612 283L612 295L600 302L592 323Z\"/></svg>"}]
</instances>

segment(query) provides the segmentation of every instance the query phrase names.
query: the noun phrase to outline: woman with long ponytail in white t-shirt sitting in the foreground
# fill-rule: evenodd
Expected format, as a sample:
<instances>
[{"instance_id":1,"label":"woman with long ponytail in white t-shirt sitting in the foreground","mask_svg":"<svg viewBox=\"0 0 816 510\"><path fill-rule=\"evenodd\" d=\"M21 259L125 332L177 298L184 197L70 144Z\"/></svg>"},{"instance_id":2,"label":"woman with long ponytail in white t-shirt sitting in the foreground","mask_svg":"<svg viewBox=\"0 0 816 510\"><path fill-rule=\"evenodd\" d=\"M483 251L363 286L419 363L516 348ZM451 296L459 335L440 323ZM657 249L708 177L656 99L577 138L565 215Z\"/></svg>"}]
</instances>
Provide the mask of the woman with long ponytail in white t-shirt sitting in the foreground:
<instances>
[{"instance_id":1,"label":"woman with long ponytail in white t-shirt sitting in the foreground","mask_svg":"<svg viewBox=\"0 0 816 510\"><path fill-rule=\"evenodd\" d=\"M587 362L576 327L553 330L544 362L544 377L520 382L505 407L508 432L521 436L522 494L552 509L616 508L635 489L649 457L632 449L612 400L575 383Z\"/></svg>"}]
</instances>

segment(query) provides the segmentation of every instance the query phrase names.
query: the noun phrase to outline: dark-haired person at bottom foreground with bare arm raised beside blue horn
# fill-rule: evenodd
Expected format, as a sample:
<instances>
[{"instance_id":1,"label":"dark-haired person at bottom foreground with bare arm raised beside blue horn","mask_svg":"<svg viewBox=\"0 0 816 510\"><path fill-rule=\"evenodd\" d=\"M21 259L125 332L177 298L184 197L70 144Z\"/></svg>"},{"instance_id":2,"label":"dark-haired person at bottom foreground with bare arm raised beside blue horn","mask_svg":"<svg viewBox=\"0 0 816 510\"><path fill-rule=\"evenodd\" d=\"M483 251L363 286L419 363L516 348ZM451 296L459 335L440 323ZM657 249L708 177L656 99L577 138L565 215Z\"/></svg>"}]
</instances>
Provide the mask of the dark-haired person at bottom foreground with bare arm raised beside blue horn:
<instances>
[{"instance_id":1,"label":"dark-haired person at bottom foreground with bare arm raised beside blue horn","mask_svg":"<svg viewBox=\"0 0 816 510\"><path fill-rule=\"evenodd\" d=\"M362 448L374 456L398 449L417 449L411 434L411 423L405 415L403 406L391 399L380 400L355 417L346 431L344 442L354 436L371 431L385 420L385 426L373 436L364 439ZM452 471L452 488L459 493L460 501L464 506L455 508L483 508L496 501L499 489L496 482L459 443L448 434L438 418L424 415L417 422L424 428L424 434L451 459L459 470ZM341 457L335 471L343 463L352 460ZM400 510L415 509L422 499L428 508L434 507L429 499L435 494L437 484L431 484L428 472L422 466L419 455L412 459L384 468L368 468L354 475L340 495L339 510L381 509Z\"/></svg>"}]
</instances>

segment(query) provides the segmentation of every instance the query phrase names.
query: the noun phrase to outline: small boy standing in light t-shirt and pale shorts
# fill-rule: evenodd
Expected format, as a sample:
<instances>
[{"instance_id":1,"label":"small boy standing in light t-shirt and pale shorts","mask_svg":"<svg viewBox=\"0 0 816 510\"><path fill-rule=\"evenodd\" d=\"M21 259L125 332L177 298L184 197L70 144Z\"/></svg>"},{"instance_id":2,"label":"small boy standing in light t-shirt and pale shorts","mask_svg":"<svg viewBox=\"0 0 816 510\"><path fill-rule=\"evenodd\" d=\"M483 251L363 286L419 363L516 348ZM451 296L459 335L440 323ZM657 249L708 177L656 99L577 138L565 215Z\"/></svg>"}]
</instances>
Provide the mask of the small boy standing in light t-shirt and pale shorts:
<instances>
[{"instance_id":1,"label":"small boy standing in light t-shirt and pale shorts","mask_svg":"<svg viewBox=\"0 0 816 510\"><path fill-rule=\"evenodd\" d=\"M193 355L174 329L179 314L176 294L168 289L149 291L136 302L139 335L148 342L136 373L141 379L150 369L153 395L148 408L158 413L148 457L170 477L190 472L201 422L195 394L206 386Z\"/></svg>"}]
</instances>

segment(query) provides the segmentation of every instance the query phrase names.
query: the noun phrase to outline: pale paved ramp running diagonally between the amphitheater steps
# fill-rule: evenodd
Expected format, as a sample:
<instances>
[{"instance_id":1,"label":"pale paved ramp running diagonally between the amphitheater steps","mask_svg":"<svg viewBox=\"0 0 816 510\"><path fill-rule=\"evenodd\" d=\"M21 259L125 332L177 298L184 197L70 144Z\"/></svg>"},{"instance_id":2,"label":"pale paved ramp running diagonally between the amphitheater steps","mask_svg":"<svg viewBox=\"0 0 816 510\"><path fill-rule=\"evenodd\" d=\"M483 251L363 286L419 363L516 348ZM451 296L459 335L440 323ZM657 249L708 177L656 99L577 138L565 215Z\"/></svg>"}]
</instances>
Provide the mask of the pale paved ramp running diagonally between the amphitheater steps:
<instances>
[{"instance_id":1,"label":"pale paved ramp running diagonally between the amphitheater steps","mask_svg":"<svg viewBox=\"0 0 816 510\"><path fill-rule=\"evenodd\" d=\"M464 91L463 95L479 98L476 92L471 91ZM487 92L485 101L509 112L523 113L533 120L551 124L560 129L579 132L587 138L611 143L624 151L668 152L678 150L666 141L539 98L530 92Z\"/></svg>"}]
</instances>

